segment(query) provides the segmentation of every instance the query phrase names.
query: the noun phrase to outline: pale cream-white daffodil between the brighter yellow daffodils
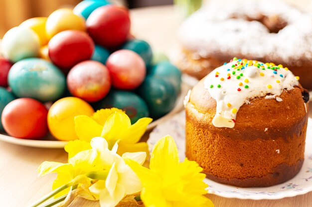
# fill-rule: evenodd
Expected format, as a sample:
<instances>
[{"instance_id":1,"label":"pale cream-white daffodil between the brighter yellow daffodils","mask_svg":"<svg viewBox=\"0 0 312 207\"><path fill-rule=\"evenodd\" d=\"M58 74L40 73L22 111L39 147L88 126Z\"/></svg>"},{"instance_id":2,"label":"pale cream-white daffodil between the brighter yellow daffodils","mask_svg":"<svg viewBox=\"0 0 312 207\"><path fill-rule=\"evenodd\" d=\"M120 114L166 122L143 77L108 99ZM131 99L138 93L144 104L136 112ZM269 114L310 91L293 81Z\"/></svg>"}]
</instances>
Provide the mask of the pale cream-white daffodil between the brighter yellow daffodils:
<instances>
[{"instance_id":1,"label":"pale cream-white daffodil between the brighter yellow daffodils","mask_svg":"<svg viewBox=\"0 0 312 207\"><path fill-rule=\"evenodd\" d=\"M98 165L110 169L106 180L99 180L89 188L91 194L100 200L101 207L115 207L126 195L142 190L141 181L124 158L143 164L146 152L127 152L120 156L116 153L118 144L109 150L104 138L92 138L91 146L98 152Z\"/></svg>"}]
</instances>

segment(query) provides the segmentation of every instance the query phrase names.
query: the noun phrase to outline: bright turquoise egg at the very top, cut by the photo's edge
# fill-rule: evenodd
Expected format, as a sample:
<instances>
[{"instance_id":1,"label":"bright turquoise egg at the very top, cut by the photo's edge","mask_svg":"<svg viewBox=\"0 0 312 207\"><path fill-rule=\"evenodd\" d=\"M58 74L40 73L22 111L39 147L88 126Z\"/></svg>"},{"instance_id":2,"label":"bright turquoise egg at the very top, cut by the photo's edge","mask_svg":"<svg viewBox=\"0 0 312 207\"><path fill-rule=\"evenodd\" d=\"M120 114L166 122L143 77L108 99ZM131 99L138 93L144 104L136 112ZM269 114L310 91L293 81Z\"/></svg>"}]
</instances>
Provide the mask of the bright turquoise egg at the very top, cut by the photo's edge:
<instances>
[{"instance_id":1,"label":"bright turquoise egg at the very top, cut by the photo's edge","mask_svg":"<svg viewBox=\"0 0 312 207\"><path fill-rule=\"evenodd\" d=\"M90 14L97 8L110 4L107 0L83 0L74 8L74 13L88 19Z\"/></svg>"}]
</instances>

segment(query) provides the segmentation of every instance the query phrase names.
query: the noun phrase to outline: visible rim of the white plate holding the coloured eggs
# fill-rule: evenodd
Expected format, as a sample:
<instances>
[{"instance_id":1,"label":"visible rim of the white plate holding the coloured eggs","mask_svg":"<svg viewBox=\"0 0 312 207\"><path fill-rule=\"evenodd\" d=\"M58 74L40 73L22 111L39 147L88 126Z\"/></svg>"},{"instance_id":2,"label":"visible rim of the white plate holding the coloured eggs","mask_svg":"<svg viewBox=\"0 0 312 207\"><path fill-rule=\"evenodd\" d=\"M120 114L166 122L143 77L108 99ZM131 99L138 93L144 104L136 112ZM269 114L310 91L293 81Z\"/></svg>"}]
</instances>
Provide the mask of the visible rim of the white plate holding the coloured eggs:
<instances>
[{"instance_id":1,"label":"visible rim of the white plate holding the coloured eggs","mask_svg":"<svg viewBox=\"0 0 312 207\"><path fill-rule=\"evenodd\" d=\"M190 89L190 86L187 84L182 84L181 85L181 92L179 97L176 100L176 105L173 108L172 111L170 111L168 114L165 116L157 119L156 121L152 122L149 126L147 131L152 130L153 128L156 127L156 125L170 119L174 114L180 112L183 109L183 99L184 96L186 95L187 91ZM41 148L63 148L67 141L58 141L53 136L48 135L43 139L40 140L32 140L32 139L21 139L21 138L13 138L9 137L5 134L0 134L0 140L13 143L13 144L18 144L18 145L24 145L24 146L32 146L32 147L41 147Z\"/></svg>"}]
</instances>

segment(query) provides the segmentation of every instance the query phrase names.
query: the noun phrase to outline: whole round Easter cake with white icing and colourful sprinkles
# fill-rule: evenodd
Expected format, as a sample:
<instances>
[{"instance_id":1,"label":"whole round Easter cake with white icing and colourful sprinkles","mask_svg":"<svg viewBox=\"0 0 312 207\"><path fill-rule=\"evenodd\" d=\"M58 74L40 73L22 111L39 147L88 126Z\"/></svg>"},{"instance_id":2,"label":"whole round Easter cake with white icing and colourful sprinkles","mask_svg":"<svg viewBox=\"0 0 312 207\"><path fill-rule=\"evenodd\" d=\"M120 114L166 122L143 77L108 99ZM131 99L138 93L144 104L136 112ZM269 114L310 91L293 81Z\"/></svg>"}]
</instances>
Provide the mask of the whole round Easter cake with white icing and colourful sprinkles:
<instances>
[{"instance_id":1,"label":"whole round Easter cake with white icing and colourful sprinkles","mask_svg":"<svg viewBox=\"0 0 312 207\"><path fill-rule=\"evenodd\" d=\"M288 68L240 60L214 69L186 98L186 156L207 178L267 187L304 161L309 93Z\"/></svg>"}]
</instances>

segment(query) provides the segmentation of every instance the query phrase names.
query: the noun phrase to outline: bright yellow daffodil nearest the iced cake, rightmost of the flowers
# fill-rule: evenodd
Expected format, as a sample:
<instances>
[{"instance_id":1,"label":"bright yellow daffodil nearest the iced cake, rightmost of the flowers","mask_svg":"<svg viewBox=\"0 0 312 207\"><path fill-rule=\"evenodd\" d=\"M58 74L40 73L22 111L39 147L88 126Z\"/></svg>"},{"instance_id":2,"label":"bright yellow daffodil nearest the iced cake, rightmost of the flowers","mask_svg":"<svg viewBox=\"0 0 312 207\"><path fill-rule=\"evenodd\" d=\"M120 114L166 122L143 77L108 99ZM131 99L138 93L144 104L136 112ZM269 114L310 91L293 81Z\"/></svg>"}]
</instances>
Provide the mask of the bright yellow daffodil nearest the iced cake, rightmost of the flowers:
<instances>
[{"instance_id":1,"label":"bright yellow daffodil nearest the iced cake, rightmost of the flowers","mask_svg":"<svg viewBox=\"0 0 312 207\"><path fill-rule=\"evenodd\" d=\"M202 168L187 158L179 162L178 150L172 137L157 141L152 152L150 169L126 159L139 176L143 189L141 199L146 207L213 207L204 197L208 186L203 182Z\"/></svg>"}]
</instances>

